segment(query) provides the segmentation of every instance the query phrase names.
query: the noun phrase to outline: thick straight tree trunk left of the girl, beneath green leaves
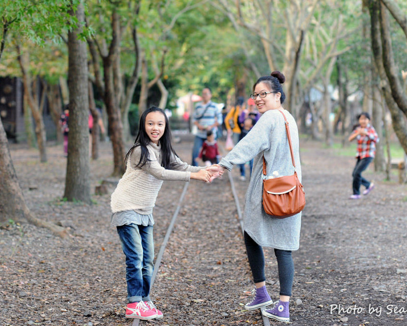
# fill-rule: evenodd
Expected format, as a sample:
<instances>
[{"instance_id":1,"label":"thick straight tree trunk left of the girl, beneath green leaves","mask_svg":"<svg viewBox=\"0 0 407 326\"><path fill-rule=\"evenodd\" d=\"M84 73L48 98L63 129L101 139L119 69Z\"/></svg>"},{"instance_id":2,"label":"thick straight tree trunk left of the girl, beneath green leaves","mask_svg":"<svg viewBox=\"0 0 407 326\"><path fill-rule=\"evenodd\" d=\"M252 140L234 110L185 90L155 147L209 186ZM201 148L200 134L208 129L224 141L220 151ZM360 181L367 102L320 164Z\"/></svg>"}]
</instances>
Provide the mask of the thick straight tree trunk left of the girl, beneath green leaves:
<instances>
[{"instance_id":1,"label":"thick straight tree trunk left of the girl, beneath green leaves","mask_svg":"<svg viewBox=\"0 0 407 326\"><path fill-rule=\"evenodd\" d=\"M86 43L78 38L84 22L83 0L70 14L78 24L68 33L69 135L64 197L90 204L88 63Z\"/></svg>"}]
</instances>

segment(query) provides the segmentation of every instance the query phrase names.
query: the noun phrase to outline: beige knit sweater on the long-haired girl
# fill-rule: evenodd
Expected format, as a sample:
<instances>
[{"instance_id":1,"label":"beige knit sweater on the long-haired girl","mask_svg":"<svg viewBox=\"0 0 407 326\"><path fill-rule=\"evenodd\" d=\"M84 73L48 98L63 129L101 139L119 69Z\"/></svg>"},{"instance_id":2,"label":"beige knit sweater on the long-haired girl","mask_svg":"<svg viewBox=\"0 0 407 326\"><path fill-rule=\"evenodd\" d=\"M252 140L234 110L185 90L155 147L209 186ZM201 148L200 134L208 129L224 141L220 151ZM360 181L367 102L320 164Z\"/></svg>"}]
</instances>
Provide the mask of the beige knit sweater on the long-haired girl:
<instances>
[{"instance_id":1,"label":"beige knit sweater on the long-haired girl","mask_svg":"<svg viewBox=\"0 0 407 326\"><path fill-rule=\"evenodd\" d=\"M141 169L136 168L141 149L133 149L126 172L111 195L110 208L113 213L134 210L140 214L151 214L163 180L189 181L191 172L203 169L190 166L172 155L173 170L166 170L161 166L161 146L150 143L147 148L151 161L147 161Z\"/></svg>"}]
</instances>

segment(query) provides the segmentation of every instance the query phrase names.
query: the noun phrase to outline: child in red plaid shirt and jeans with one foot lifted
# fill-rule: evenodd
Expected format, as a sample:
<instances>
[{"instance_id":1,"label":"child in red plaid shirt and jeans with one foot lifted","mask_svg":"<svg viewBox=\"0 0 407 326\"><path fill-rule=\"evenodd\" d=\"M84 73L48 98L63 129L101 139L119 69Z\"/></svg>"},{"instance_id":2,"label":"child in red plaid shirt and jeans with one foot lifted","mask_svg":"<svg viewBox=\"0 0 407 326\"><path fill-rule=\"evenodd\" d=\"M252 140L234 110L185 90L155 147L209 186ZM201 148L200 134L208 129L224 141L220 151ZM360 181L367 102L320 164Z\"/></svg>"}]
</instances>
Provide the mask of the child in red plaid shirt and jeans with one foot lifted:
<instances>
[{"instance_id":1,"label":"child in red plaid shirt and jeans with one foot lifted","mask_svg":"<svg viewBox=\"0 0 407 326\"><path fill-rule=\"evenodd\" d=\"M356 165L352 172L353 182L353 195L350 199L360 199L360 185L363 184L366 189L363 195L369 194L374 188L372 181L367 181L362 177L362 172L367 169L370 162L373 160L376 154L376 143L379 142L376 130L370 124L370 115L367 112L362 112L358 115L359 125L352 131L349 136L349 141L354 139L358 142L356 153Z\"/></svg>"}]
</instances>

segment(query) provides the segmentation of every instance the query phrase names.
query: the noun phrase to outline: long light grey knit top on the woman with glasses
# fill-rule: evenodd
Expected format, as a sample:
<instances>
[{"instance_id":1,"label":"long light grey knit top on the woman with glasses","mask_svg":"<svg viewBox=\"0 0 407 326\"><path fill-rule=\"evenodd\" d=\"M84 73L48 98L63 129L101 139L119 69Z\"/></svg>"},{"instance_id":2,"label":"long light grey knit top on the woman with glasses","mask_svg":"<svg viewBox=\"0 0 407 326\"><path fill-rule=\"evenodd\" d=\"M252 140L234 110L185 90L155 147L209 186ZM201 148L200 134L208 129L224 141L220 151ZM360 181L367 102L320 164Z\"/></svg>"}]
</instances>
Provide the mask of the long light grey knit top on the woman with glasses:
<instances>
[{"instance_id":1,"label":"long light grey knit top on the woman with glasses","mask_svg":"<svg viewBox=\"0 0 407 326\"><path fill-rule=\"evenodd\" d=\"M301 181L298 128L293 116L283 110L289 123L296 170ZM280 176L294 173L285 123L278 110L266 111L249 133L219 164L231 170L236 164L253 160L253 170L247 188L244 211L244 229L260 246L281 250L298 250L300 242L301 212L286 219L277 219L265 213L261 203L263 193L263 154L267 162L267 175L278 171Z\"/></svg>"}]
</instances>

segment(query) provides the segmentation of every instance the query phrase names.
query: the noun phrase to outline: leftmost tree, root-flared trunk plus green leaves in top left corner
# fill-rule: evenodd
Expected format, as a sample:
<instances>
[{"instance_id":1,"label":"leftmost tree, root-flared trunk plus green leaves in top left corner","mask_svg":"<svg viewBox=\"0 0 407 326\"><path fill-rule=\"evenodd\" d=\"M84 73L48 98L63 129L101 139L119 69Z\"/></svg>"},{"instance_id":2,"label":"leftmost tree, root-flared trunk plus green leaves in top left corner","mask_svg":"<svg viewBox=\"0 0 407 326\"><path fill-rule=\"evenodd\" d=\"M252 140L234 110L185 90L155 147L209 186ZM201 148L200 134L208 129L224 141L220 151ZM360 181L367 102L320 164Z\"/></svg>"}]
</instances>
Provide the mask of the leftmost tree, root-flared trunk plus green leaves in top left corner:
<instances>
[{"instance_id":1,"label":"leftmost tree, root-flared trunk plus green leaves in top left corner","mask_svg":"<svg viewBox=\"0 0 407 326\"><path fill-rule=\"evenodd\" d=\"M41 41L52 30L53 36L60 32L63 22L66 21L66 11L63 2L55 4L52 0L41 3L26 0L14 0L0 3L0 60L6 48L7 34L10 31L19 31L25 36ZM44 15L44 12L48 13ZM45 28L47 26L47 28ZM49 29L52 26L51 29ZM51 33L51 34L52 34ZM53 232L64 236L66 230L51 223L35 218L27 208L18 183L12 163L6 132L0 118L0 221L8 219L28 221L29 223L46 227Z\"/></svg>"}]
</instances>

